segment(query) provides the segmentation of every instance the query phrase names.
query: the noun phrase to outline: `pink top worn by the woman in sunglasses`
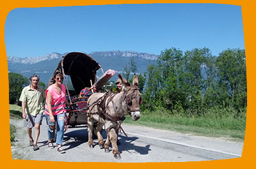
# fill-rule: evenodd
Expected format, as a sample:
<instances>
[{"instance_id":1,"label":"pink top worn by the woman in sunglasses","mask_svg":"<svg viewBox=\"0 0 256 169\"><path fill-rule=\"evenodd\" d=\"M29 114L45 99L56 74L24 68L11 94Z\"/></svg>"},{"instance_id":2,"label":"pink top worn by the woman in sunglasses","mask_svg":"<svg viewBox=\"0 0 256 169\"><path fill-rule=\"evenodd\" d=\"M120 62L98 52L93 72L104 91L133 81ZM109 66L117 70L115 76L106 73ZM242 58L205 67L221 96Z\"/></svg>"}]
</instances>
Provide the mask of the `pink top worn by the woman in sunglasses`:
<instances>
[{"instance_id":1,"label":"pink top worn by the woman in sunglasses","mask_svg":"<svg viewBox=\"0 0 256 169\"><path fill-rule=\"evenodd\" d=\"M61 84L61 94L58 93L52 85L50 85L46 91L45 91L45 114L49 115L49 110L48 110L48 105L47 105L47 92L50 91L51 92L51 96L52 96L52 103L51 103L51 107L52 107L52 115L58 115L58 114L63 114L65 113L67 110L65 109L66 106L66 88L65 85Z\"/></svg>"}]
</instances>

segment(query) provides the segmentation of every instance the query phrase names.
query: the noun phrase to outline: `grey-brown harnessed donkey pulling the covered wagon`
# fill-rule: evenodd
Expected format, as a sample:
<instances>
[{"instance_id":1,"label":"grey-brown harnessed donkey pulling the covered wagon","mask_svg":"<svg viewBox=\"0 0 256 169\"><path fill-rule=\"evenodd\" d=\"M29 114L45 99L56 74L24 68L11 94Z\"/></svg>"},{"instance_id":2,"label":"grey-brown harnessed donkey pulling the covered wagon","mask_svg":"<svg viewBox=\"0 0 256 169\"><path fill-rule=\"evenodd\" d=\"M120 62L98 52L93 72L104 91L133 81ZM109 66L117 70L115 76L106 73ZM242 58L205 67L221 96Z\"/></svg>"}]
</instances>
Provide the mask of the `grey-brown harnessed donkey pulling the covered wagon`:
<instances>
[{"instance_id":1,"label":"grey-brown harnessed donkey pulling the covered wagon","mask_svg":"<svg viewBox=\"0 0 256 169\"><path fill-rule=\"evenodd\" d=\"M121 159L116 141L118 138L118 129L125 119L125 115L131 115L132 121L140 119L140 104L142 97L138 90L138 76L133 77L132 85L127 82L120 74L118 77L124 85L124 91L120 93L94 93L88 99L87 125L88 125L88 145L93 148L93 124L97 123L96 133L100 149L109 152L109 144L112 144L113 154L116 159ZM106 124L107 139L104 143L101 131L102 126ZM121 128L122 129L122 128ZM126 134L125 134L126 135Z\"/></svg>"}]
</instances>

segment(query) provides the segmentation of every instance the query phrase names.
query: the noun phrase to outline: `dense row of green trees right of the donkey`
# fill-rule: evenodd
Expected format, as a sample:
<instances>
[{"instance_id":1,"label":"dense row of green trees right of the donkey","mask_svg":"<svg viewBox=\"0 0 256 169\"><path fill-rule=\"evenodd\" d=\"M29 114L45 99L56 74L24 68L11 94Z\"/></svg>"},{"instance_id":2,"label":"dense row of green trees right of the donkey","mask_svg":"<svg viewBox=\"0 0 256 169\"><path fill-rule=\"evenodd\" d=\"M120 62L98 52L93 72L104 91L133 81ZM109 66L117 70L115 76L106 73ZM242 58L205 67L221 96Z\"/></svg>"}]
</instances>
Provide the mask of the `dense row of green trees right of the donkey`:
<instances>
[{"instance_id":1,"label":"dense row of green trees right of the donkey","mask_svg":"<svg viewBox=\"0 0 256 169\"><path fill-rule=\"evenodd\" d=\"M142 110L163 108L169 114L202 117L218 107L240 117L247 106L244 50L228 49L215 57L208 48L184 53L170 48L147 71Z\"/></svg>"}]
</instances>

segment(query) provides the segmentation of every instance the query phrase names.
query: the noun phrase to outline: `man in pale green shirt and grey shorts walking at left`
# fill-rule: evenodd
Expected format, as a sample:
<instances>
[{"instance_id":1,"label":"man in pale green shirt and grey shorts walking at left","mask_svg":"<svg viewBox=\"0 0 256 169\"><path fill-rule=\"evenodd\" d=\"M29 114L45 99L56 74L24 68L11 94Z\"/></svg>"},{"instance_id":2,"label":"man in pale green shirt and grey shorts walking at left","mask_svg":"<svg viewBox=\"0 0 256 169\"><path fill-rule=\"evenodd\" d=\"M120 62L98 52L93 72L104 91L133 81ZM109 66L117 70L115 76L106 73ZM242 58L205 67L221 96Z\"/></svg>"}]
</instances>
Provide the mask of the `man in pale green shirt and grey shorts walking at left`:
<instances>
[{"instance_id":1,"label":"man in pale green shirt and grey shorts walking at left","mask_svg":"<svg viewBox=\"0 0 256 169\"><path fill-rule=\"evenodd\" d=\"M22 101L22 117L27 122L29 146L33 146L33 150L37 151L39 149L37 141L44 113L45 92L43 87L38 86L38 75L32 75L29 80L31 84L22 89L20 101ZM32 137L33 127L35 127L35 140Z\"/></svg>"}]
</instances>

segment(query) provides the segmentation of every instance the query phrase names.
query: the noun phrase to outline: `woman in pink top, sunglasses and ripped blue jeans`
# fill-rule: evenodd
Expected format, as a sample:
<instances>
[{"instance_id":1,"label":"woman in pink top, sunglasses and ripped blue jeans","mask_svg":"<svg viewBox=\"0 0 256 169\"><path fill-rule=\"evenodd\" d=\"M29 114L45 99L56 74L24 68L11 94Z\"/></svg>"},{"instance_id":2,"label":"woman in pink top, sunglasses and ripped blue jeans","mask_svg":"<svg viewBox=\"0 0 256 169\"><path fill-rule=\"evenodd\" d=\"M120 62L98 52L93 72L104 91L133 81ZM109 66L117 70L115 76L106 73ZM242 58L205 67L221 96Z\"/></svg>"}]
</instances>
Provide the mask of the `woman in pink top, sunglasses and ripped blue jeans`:
<instances>
[{"instance_id":1,"label":"woman in pink top, sunglasses and ripped blue jeans","mask_svg":"<svg viewBox=\"0 0 256 169\"><path fill-rule=\"evenodd\" d=\"M54 83L45 91L45 118L48 125L48 147L54 148L53 138L55 136L55 126L57 126L56 144L58 152L65 153L61 147L64 136L66 104L70 106L66 99L66 88L63 82L63 75L60 71L56 71L54 75Z\"/></svg>"}]
</instances>

